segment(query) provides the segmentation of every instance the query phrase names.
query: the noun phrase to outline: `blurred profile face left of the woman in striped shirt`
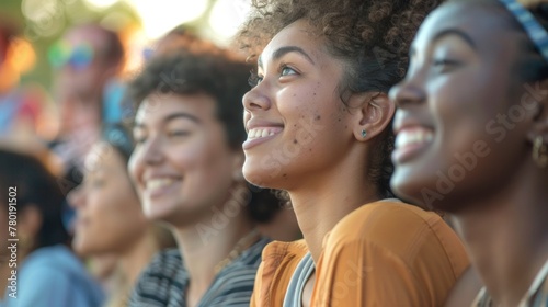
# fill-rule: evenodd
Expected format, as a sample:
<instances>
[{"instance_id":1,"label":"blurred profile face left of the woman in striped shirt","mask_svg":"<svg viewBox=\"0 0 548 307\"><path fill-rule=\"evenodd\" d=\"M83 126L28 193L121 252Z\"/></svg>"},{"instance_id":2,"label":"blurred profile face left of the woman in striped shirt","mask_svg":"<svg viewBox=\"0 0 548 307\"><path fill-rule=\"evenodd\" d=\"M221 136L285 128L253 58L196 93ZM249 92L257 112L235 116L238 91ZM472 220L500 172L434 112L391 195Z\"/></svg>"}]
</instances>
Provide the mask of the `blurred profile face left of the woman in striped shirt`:
<instances>
[{"instance_id":1,"label":"blurred profile face left of the woman in striped shirt","mask_svg":"<svg viewBox=\"0 0 548 307\"><path fill-rule=\"evenodd\" d=\"M104 141L85 157L84 181L69 194L77 219L72 247L81 254L129 250L145 236L148 221L132 186L125 160Z\"/></svg>"}]
</instances>

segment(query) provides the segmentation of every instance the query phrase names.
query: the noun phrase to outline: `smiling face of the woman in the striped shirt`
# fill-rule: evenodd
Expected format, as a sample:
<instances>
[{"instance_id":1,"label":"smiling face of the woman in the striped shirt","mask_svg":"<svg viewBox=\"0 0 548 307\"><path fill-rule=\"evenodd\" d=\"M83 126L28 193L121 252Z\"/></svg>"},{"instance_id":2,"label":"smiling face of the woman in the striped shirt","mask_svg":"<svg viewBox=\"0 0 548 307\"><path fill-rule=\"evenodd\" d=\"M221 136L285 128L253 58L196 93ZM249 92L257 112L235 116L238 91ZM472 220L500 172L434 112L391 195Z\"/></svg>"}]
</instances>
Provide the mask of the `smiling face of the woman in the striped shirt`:
<instances>
[{"instance_id":1,"label":"smiling face of the woman in the striped shirt","mask_svg":"<svg viewBox=\"0 0 548 307\"><path fill-rule=\"evenodd\" d=\"M207 94L153 93L140 104L129 168L148 218L184 227L229 200L242 157L216 109Z\"/></svg>"}]
</instances>

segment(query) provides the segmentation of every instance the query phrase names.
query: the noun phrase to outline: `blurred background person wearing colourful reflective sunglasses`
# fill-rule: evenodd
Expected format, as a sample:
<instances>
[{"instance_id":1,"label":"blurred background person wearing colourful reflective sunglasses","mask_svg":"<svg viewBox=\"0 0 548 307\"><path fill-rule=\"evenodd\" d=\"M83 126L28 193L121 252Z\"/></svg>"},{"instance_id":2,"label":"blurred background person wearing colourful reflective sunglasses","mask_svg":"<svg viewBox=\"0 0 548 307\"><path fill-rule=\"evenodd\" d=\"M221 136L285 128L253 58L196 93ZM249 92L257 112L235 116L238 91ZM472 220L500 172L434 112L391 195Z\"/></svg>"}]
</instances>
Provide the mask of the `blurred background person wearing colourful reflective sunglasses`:
<instances>
[{"instance_id":1,"label":"blurred background person wearing colourful reflective sunglasses","mask_svg":"<svg viewBox=\"0 0 548 307\"><path fill-rule=\"evenodd\" d=\"M119 90L124 55L118 35L93 23L69 29L49 49L60 113L59 135L50 146L64 169L66 192L81 182L83 157L99 139L102 123L119 113L118 102L106 98L109 90Z\"/></svg>"}]
</instances>

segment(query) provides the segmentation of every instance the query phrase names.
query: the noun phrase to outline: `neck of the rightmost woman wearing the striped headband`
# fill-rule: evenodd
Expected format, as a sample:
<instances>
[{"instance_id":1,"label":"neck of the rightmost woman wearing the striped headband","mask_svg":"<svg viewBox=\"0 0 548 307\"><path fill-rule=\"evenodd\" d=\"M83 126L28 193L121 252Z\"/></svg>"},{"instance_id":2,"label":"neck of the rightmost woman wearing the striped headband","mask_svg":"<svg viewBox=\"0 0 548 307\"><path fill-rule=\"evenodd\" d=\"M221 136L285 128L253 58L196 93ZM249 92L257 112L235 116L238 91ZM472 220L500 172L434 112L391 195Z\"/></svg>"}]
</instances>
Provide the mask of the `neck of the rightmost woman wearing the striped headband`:
<instances>
[{"instance_id":1,"label":"neck of the rightmost woman wearing the striped headband","mask_svg":"<svg viewBox=\"0 0 548 307\"><path fill-rule=\"evenodd\" d=\"M518 187L468 202L456 215L471 261L499 306L517 306L548 258L548 181L520 178Z\"/></svg>"}]
</instances>

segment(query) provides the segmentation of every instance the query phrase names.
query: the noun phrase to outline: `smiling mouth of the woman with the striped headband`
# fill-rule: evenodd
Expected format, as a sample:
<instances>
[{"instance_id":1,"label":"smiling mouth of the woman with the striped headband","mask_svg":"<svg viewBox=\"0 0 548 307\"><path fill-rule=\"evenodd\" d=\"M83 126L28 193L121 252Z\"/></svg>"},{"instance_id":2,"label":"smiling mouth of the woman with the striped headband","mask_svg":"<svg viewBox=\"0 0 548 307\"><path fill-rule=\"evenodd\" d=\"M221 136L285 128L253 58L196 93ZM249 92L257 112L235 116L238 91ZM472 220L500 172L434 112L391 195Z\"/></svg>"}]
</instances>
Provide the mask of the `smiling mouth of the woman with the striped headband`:
<instances>
[{"instance_id":1,"label":"smiling mouth of the woman with the striped headband","mask_svg":"<svg viewBox=\"0 0 548 307\"><path fill-rule=\"evenodd\" d=\"M402 128L396 136L396 149L392 152L392 161L401 163L426 148L434 140L432 129L413 126Z\"/></svg>"}]
</instances>

